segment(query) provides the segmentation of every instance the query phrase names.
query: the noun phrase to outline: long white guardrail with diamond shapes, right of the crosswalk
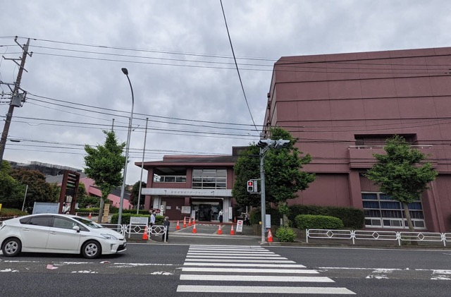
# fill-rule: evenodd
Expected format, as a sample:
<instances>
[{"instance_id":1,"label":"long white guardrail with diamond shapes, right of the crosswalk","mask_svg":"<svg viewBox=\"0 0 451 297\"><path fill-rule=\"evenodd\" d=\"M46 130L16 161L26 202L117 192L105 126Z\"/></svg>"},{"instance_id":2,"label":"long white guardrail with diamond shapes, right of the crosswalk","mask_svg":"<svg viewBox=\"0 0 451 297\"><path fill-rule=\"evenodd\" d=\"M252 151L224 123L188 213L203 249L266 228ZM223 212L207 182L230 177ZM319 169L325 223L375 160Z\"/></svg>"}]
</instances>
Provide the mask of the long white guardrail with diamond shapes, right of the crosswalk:
<instances>
[{"instance_id":1,"label":"long white guardrail with diamond shapes, right of the crosswalk","mask_svg":"<svg viewBox=\"0 0 451 297\"><path fill-rule=\"evenodd\" d=\"M443 242L443 246L446 246L447 242L451 242L451 233L433 232L306 229L305 234L307 243L309 238L350 239L352 244L359 240L397 241L400 246L403 241Z\"/></svg>"}]
</instances>

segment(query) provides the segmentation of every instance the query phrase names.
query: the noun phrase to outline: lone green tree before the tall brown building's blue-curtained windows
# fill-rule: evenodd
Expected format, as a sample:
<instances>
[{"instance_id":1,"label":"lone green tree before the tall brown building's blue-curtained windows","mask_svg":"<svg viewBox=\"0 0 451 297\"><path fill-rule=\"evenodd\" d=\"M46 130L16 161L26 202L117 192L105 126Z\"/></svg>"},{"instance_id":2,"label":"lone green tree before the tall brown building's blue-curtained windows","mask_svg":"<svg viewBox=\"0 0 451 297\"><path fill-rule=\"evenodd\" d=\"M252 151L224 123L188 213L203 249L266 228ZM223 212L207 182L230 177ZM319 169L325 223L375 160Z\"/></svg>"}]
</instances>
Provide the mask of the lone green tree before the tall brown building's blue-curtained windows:
<instances>
[{"instance_id":1,"label":"lone green tree before the tall brown building's blue-curtained windows","mask_svg":"<svg viewBox=\"0 0 451 297\"><path fill-rule=\"evenodd\" d=\"M376 163L365 176L378 185L383 193L402 203L409 231L414 224L409 212L409 203L418 200L428 189L438 172L431 162L424 162L426 154L409 146L400 135L386 140L383 148L386 154L373 154Z\"/></svg>"}]
</instances>

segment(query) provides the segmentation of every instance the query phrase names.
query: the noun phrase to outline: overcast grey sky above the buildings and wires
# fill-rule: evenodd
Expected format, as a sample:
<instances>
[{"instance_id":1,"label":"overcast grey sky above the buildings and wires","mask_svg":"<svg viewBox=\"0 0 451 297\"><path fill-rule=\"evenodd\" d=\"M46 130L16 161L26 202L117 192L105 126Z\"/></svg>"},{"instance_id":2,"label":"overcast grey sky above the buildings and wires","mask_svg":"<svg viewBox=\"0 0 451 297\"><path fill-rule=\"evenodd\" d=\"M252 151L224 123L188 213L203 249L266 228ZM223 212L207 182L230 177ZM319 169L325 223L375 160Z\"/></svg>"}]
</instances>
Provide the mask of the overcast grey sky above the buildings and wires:
<instances>
[{"instance_id":1,"label":"overcast grey sky above the buildings and wires","mask_svg":"<svg viewBox=\"0 0 451 297\"><path fill-rule=\"evenodd\" d=\"M0 51L32 57L20 87L4 159L83 169L83 145L102 130L127 140L135 95L127 183L163 154L231 154L259 139L273 63L281 56L451 46L451 1L1 0ZM18 66L0 60L0 80ZM11 92L0 85L5 119ZM249 109L250 113L249 113ZM251 116L252 114L252 116ZM4 121L3 121L4 123ZM3 130L3 124L0 127ZM143 181L147 179L144 171Z\"/></svg>"}]
</instances>

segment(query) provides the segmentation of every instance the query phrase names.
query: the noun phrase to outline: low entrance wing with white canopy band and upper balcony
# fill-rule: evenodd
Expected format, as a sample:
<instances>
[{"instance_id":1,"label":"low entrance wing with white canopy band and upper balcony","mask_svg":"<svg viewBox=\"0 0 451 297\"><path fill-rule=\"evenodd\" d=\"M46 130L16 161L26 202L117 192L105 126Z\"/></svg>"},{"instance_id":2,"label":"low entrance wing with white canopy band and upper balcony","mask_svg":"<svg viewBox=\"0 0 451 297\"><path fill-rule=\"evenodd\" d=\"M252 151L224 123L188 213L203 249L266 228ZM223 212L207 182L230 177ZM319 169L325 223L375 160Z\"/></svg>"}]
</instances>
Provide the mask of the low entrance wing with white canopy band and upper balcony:
<instances>
[{"instance_id":1,"label":"low entrance wing with white canopy band and upper balcony","mask_svg":"<svg viewBox=\"0 0 451 297\"><path fill-rule=\"evenodd\" d=\"M233 165L240 149L233 147L228 156L164 156L161 161L144 162L144 209L156 210L171 220L192 217L200 222L231 222Z\"/></svg>"}]
</instances>

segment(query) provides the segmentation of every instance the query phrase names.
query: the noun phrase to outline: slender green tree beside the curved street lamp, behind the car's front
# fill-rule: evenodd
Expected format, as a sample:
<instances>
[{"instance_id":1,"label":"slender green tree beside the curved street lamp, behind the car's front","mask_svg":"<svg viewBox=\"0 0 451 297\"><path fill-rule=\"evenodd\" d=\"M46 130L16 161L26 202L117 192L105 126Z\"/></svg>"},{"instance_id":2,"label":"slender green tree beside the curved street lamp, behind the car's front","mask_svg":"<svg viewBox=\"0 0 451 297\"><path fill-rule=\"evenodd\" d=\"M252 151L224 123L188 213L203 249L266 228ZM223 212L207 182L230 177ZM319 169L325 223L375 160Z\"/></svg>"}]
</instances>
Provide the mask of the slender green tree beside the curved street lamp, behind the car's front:
<instances>
[{"instance_id":1,"label":"slender green tree beside the curved street lamp, behind the car's front","mask_svg":"<svg viewBox=\"0 0 451 297\"><path fill-rule=\"evenodd\" d=\"M104 201L111 193L113 187L122 183L122 169L125 157L122 155L125 143L118 143L114 131L103 131L106 135L104 145L91 147L85 145L85 174L92 178L101 190L99 220L104 214Z\"/></svg>"}]
</instances>

